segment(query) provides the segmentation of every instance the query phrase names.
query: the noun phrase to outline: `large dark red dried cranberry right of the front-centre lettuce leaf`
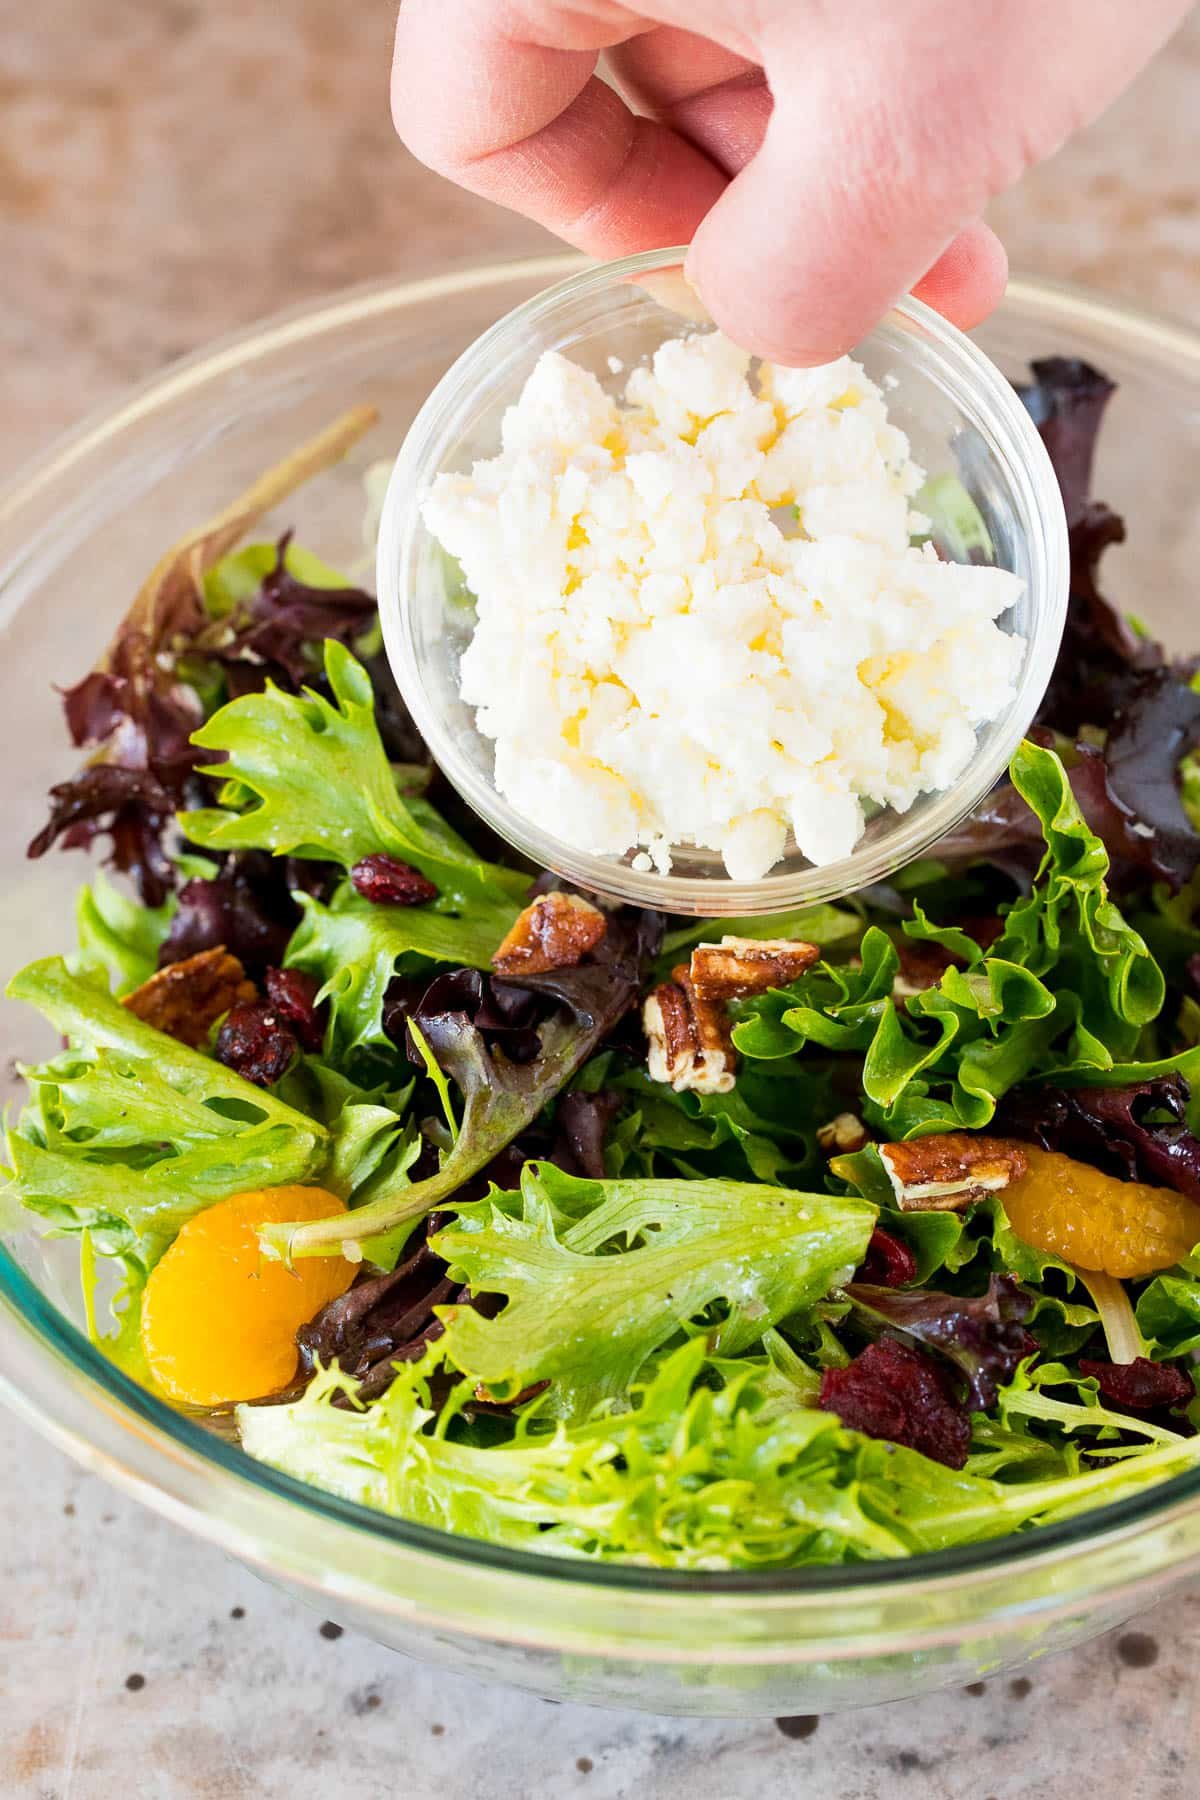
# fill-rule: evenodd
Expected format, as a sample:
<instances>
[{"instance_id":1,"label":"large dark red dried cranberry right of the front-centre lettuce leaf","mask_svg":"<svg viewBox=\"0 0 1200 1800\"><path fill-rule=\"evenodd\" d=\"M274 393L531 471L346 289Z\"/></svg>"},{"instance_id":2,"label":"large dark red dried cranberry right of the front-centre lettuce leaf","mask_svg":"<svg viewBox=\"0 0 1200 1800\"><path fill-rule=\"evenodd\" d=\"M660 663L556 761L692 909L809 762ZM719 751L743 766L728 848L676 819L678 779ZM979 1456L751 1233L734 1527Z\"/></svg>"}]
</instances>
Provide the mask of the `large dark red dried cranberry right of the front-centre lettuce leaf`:
<instances>
[{"instance_id":1,"label":"large dark red dried cranberry right of the front-centre lettuce leaf","mask_svg":"<svg viewBox=\"0 0 1200 1800\"><path fill-rule=\"evenodd\" d=\"M819 1404L869 1438L903 1444L948 1469L966 1462L972 1422L950 1373L894 1337L867 1345L847 1368L828 1368Z\"/></svg>"}]
</instances>

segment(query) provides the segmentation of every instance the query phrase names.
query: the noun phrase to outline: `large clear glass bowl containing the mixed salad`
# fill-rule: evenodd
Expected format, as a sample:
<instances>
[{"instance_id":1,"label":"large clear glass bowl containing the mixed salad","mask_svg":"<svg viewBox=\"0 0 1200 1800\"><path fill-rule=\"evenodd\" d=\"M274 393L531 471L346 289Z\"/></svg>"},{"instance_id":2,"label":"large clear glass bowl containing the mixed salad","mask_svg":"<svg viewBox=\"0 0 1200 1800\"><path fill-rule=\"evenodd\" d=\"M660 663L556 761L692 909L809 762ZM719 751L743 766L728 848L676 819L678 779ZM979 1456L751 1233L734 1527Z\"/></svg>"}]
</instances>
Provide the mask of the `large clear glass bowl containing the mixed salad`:
<instances>
[{"instance_id":1,"label":"large clear glass bowl containing the mixed salad","mask_svg":"<svg viewBox=\"0 0 1200 1800\"><path fill-rule=\"evenodd\" d=\"M52 686L101 648L153 562L261 466L354 400L380 428L277 520L362 558L362 470L392 455L479 333L574 259L376 286L171 369L0 499L0 967L72 940L81 857L25 860L74 767ZM1097 491L1126 513L1114 592L1196 646L1200 337L1015 283L981 342L1018 374L1079 355L1121 383ZM272 522L273 524L273 522ZM4 1069L52 1048L4 1003ZM11 1094L16 1082L7 1076ZM972 1681L1081 1642L1200 1568L1200 1472L1027 1537L792 1575L667 1575L491 1550L331 1499L128 1382L86 1343L70 1246L0 1251L0 1391L36 1429L324 1613L430 1661L556 1697L694 1714L831 1712Z\"/></svg>"}]
</instances>

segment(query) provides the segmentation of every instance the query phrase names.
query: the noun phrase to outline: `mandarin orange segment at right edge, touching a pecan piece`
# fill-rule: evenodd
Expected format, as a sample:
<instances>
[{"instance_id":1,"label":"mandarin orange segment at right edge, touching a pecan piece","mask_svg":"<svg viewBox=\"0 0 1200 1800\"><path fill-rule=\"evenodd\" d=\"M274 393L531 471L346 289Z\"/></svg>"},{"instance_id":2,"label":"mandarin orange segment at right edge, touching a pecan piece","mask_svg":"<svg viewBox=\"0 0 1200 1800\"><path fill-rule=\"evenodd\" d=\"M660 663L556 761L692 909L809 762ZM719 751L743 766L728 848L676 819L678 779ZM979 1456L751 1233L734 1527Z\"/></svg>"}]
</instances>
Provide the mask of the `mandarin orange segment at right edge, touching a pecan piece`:
<instances>
[{"instance_id":1,"label":"mandarin orange segment at right edge, touching a pecan piece","mask_svg":"<svg viewBox=\"0 0 1200 1800\"><path fill-rule=\"evenodd\" d=\"M1173 1188L1117 1181L1058 1150L1025 1148L1029 1168L1004 1190L1018 1238L1079 1269L1132 1282L1200 1244L1200 1206Z\"/></svg>"}]
</instances>

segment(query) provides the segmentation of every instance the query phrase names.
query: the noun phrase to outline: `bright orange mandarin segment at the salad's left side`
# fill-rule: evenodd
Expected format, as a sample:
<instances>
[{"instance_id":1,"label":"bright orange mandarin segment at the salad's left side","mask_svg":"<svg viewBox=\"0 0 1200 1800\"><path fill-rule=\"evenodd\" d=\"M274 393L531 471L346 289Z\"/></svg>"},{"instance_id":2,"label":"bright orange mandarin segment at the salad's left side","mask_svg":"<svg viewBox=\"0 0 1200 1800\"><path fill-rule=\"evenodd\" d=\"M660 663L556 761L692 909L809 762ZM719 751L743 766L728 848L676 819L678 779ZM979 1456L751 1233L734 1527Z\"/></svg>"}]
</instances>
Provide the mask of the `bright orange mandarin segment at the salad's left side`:
<instances>
[{"instance_id":1,"label":"bright orange mandarin segment at the salad's left side","mask_svg":"<svg viewBox=\"0 0 1200 1800\"><path fill-rule=\"evenodd\" d=\"M299 1327L345 1292L358 1265L342 1256L309 1256L293 1269L266 1262L257 1231L344 1211L324 1188L263 1188L189 1219L142 1296L142 1348L162 1391L189 1406L225 1406L286 1388Z\"/></svg>"}]
</instances>

